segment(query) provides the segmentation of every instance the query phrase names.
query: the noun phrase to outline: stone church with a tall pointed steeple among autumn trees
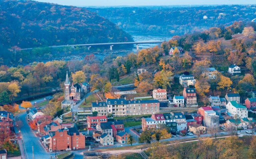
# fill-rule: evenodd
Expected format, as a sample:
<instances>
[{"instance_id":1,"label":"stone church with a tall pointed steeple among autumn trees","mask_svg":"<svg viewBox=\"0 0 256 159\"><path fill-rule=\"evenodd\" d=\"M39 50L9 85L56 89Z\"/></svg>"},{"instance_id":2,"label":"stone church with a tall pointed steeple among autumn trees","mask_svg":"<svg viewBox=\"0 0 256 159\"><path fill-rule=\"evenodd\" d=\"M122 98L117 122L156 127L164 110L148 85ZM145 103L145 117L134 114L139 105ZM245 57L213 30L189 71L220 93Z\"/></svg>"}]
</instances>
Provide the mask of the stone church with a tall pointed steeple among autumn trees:
<instances>
[{"instance_id":1,"label":"stone church with a tall pointed steeple among autumn trees","mask_svg":"<svg viewBox=\"0 0 256 159\"><path fill-rule=\"evenodd\" d=\"M65 80L65 100L72 100L72 101L78 101L82 99L83 97L83 87L76 83L72 83L72 86L70 86L69 79L68 79L68 72L66 75L66 80Z\"/></svg>"}]
</instances>

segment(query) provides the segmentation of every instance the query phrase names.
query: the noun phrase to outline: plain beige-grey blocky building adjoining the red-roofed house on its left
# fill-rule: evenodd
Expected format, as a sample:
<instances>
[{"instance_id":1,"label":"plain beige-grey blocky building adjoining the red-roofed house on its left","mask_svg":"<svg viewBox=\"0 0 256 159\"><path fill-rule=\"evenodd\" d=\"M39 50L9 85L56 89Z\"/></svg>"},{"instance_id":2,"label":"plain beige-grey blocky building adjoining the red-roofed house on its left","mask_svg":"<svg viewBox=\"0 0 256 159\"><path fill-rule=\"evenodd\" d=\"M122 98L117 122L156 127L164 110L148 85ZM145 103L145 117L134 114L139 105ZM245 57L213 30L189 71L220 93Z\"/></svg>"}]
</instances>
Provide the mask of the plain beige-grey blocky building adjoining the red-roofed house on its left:
<instances>
[{"instance_id":1,"label":"plain beige-grey blocky building adjoining the red-roofed house on its left","mask_svg":"<svg viewBox=\"0 0 256 159\"><path fill-rule=\"evenodd\" d=\"M204 112L204 126L212 127L219 126L219 116L216 115L216 112L213 110L207 110Z\"/></svg>"}]
</instances>

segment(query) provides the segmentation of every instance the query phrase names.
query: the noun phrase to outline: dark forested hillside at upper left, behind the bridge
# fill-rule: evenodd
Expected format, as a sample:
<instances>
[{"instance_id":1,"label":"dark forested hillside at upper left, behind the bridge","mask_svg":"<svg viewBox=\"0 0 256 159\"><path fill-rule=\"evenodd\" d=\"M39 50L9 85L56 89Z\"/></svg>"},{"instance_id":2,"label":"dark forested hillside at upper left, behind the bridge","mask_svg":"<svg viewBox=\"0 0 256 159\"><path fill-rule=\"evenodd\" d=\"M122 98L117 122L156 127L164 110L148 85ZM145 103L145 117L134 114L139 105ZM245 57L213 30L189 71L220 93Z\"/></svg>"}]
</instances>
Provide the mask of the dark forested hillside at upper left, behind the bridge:
<instances>
[{"instance_id":1,"label":"dark forested hillside at upper left, behind the bridge","mask_svg":"<svg viewBox=\"0 0 256 159\"><path fill-rule=\"evenodd\" d=\"M0 1L0 32L0 63L16 63L24 57L18 47L132 41L129 34L96 13L35 1Z\"/></svg>"}]
</instances>

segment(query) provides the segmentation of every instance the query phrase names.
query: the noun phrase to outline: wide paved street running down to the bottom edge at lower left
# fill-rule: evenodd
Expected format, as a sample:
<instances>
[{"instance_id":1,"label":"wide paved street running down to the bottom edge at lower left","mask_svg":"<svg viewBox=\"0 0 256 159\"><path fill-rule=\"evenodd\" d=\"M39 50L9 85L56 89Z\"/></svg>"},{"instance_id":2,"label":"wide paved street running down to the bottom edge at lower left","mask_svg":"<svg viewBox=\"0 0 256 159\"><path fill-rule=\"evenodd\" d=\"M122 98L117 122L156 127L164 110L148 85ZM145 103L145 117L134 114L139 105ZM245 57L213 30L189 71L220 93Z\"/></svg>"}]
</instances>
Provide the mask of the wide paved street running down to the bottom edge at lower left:
<instances>
[{"instance_id":1,"label":"wide paved street running down to the bottom edge at lower left","mask_svg":"<svg viewBox=\"0 0 256 159\"><path fill-rule=\"evenodd\" d=\"M19 116L18 118L22 121L23 126L20 128L22 140L27 153L28 159L33 158L32 146L34 147L34 158L35 159L49 159L51 155L46 152L42 144L39 142L39 137L36 137L34 131L28 126L26 121L26 113Z\"/></svg>"}]
</instances>

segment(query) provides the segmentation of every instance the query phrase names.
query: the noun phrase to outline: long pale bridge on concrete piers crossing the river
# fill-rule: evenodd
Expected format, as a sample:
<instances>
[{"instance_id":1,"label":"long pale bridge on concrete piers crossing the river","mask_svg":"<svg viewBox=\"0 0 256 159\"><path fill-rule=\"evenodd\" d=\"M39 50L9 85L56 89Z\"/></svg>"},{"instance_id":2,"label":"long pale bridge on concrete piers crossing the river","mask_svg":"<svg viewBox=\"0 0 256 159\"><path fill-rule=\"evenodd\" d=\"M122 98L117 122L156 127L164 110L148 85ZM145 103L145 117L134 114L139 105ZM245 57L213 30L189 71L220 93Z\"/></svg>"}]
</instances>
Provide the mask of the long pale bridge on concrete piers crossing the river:
<instances>
[{"instance_id":1,"label":"long pale bridge on concrete piers crossing the river","mask_svg":"<svg viewBox=\"0 0 256 159\"><path fill-rule=\"evenodd\" d=\"M59 48L59 47L67 47L67 46L88 46L88 50L90 50L90 48L92 46L99 46L99 45L110 45L110 50L112 50L112 47L114 45L127 45L127 44L135 44L137 45L137 50L139 50L139 44L160 44L163 41L135 41L135 42L117 42L117 43L96 43L96 44L76 44L76 45L59 45L59 46L48 46L50 48ZM31 50L33 48L26 48L26 49L21 49L21 50Z\"/></svg>"}]
</instances>

